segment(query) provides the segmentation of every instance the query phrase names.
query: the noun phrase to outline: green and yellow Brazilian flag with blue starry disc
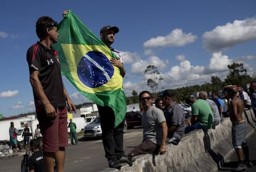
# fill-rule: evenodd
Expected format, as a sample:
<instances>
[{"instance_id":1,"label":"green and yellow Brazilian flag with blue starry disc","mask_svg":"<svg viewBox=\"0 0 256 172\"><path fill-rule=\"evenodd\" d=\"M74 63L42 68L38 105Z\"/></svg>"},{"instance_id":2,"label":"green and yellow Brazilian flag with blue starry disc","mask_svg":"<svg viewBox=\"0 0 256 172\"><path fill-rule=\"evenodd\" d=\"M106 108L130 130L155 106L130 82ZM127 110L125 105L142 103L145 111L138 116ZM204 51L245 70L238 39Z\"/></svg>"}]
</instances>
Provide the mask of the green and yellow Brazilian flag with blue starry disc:
<instances>
[{"instance_id":1,"label":"green and yellow Brazilian flag with blue starry disc","mask_svg":"<svg viewBox=\"0 0 256 172\"><path fill-rule=\"evenodd\" d=\"M116 55L69 10L58 25L61 73L85 97L113 109L119 125L126 115L126 95L119 68L111 65ZM107 114L106 114L107 115Z\"/></svg>"}]
</instances>

